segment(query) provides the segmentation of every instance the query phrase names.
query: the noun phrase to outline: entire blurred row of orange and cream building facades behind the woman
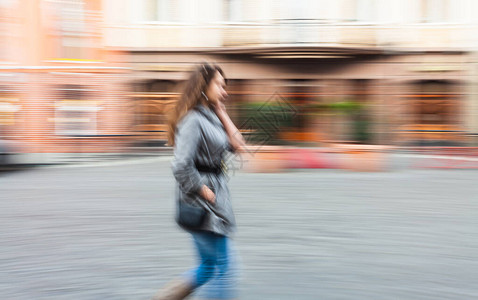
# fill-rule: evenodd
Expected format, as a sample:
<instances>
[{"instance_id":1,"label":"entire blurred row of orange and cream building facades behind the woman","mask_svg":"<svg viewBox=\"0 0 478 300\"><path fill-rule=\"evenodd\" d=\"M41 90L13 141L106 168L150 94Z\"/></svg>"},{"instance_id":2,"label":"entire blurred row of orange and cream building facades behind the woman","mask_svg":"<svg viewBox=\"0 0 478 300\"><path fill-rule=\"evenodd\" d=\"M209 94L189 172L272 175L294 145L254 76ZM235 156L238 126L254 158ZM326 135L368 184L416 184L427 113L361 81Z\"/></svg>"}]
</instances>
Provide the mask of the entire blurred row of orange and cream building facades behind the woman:
<instances>
[{"instance_id":1,"label":"entire blurred row of orange and cream building facades behind the woman","mask_svg":"<svg viewBox=\"0 0 478 300\"><path fill-rule=\"evenodd\" d=\"M33 5L32 5L33 4ZM473 0L0 0L0 130L32 152L164 142L203 61L241 126L287 103L292 142L476 144Z\"/></svg>"}]
</instances>

